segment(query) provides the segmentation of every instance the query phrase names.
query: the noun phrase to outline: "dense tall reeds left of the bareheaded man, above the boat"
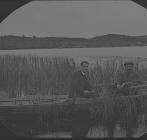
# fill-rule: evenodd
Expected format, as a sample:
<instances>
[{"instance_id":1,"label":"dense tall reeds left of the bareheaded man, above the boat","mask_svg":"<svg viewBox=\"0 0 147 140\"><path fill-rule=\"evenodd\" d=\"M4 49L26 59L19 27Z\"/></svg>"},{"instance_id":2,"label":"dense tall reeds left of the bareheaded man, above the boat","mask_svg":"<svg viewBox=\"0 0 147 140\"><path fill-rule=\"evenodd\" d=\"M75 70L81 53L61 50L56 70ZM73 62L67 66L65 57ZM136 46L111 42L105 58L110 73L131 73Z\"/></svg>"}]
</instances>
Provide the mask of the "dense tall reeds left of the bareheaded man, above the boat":
<instances>
[{"instance_id":1,"label":"dense tall reeds left of the bareheaded man, above the boat","mask_svg":"<svg viewBox=\"0 0 147 140\"><path fill-rule=\"evenodd\" d=\"M0 56L0 88L9 97L65 94L74 67L74 61L64 57Z\"/></svg>"}]
</instances>

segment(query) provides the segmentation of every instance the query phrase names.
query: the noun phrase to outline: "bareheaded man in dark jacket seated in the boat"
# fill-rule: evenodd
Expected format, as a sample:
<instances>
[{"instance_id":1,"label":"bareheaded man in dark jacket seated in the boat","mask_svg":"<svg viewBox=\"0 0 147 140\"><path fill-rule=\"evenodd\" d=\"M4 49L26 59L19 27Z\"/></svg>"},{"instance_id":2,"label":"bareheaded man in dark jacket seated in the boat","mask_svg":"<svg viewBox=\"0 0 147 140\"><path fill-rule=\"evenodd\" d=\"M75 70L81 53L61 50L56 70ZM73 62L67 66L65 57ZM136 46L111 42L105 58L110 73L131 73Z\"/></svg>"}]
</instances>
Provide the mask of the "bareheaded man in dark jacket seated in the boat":
<instances>
[{"instance_id":1,"label":"bareheaded man in dark jacket seated in the boat","mask_svg":"<svg viewBox=\"0 0 147 140\"><path fill-rule=\"evenodd\" d=\"M80 70L73 74L70 97L92 97L94 95L95 92L87 79L88 66L89 63L87 61L82 61Z\"/></svg>"}]
</instances>

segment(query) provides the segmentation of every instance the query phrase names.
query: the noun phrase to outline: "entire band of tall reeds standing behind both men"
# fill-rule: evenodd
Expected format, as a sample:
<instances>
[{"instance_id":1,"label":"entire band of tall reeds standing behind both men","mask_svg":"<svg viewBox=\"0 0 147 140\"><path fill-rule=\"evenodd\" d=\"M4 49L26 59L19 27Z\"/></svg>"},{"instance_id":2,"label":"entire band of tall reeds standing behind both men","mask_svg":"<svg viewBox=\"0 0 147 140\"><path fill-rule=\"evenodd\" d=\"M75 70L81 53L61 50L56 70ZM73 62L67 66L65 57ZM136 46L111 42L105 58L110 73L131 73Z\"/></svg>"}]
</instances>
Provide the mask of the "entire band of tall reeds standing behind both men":
<instances>
[{"instance_id":1,"label":"entire band of tall reeds standing behind both men","mask_svg":"<svg viewBox=\"0 0 147 140\"><path fill-rule=\"evenodd\" d=\"M72 74L78 69L75 60L68 57L0 56L0 90L9 97L17 95L68 94ZM119 61L97 58L90 67L91 85L100 92L99 84L114 83L123 71L123 58ZM136 71L147 79L147 67ZM106 88L106 87L105 87Z\"/></svg>"}]
</instances>

